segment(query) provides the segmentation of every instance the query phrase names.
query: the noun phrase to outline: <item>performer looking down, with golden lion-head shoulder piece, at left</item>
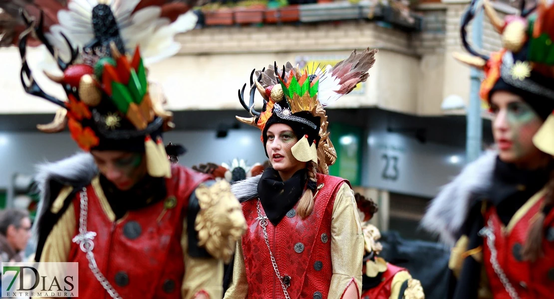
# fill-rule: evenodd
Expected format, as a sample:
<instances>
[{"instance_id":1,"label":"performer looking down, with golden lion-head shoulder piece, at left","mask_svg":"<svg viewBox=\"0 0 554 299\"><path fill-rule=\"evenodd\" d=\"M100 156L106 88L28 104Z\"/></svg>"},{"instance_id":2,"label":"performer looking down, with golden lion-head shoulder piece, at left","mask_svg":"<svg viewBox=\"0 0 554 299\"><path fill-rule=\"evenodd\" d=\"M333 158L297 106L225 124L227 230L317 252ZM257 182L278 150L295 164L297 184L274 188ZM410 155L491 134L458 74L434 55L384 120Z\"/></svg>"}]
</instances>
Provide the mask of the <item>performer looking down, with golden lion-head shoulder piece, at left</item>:
<instances>
[{"instance_id":1,"label":"performer looking down, with golden lion-head shoulder piece, at left","mask_svg":"<svg viewBox=\"0 0 554 299\"><path fill-rule=\"evenodd\" d=\"M172 114L149 85L145 60L175 53L167 52L167 34L187 23L188 6L156 3L69 1L48 34L42 17L23 14L25 91L62 108L39 128L52 133L67 125L85 151L40 167L35 260L79 263L80 298L221 298L223 263L246 228L227 182L168 159L178 155L162 143ZM31 34L63 71L48 77L66 101L33 79L25 59ZM63 47L68 60L59 55Z\"/></svg>"}]
</instances>

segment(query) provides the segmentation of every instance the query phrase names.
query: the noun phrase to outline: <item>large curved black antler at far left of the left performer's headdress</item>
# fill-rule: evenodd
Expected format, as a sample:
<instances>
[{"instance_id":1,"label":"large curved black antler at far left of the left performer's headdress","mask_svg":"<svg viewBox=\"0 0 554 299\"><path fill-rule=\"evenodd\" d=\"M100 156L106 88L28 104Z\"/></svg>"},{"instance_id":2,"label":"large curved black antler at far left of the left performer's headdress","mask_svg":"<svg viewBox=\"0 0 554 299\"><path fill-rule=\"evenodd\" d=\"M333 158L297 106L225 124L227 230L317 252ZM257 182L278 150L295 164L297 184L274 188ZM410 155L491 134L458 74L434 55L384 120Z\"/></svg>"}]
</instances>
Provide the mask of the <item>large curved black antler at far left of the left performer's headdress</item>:
<instances>
[{"instance_id":1,"label":"large curved black antler at far left of the left performer's headdress","mask_svg":"<svg viewBox=\"0 0 554 299\"><path fill-rule=\"evenodd\" d=\"M57 104L58 106L66 108L65 103L63 101L60 101L59 99L45 93L42 90L42 88L38 86L37 82L33 78L33 74L29 68L29 65L27 64L26 55L27 55L27 39L29 38L29 34L31 34L33 30L35 30L34 29L35 21L30 20L30 18L24 12L22 12L22 17L25 23L27 23L27 29L19 36L19 54L21 55L21 61L22 61L20 78L21 78L21 83L23 84L23 89L25 90L25 92L29 93L29 95L42 97L54 104ZM41 18L42 18L42 15L41 15ZM40 22L39 24L42 24L42 22Z\"/></svg>"}]
</instances>

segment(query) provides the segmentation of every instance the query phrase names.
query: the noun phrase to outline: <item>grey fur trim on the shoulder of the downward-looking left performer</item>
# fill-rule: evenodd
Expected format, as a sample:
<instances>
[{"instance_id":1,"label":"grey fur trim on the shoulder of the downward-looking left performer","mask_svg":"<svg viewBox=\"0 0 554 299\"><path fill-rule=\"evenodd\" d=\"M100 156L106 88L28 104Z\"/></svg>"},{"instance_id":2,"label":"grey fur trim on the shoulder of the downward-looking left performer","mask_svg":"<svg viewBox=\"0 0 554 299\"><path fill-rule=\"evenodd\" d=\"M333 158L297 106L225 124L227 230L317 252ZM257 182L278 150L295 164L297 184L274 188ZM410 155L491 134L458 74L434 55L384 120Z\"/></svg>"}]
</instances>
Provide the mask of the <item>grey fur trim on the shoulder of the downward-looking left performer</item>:
<instances>
[{"instance_id":1,"label":"grey fur trim on the shoulder of the downward-looking left performer","mask_svg":"<svg viewBox=\"0 0 554 299\"><path fill-rule=\"evenodd\" d=\"M37 181L40 201L33 225L34 235L38 233L41 217L55 200L55 196L50 194L52 182L66 186L86 186L97 174L98 167L89 153L78 153L60 161L38 165L35 181Z\"/></svg>"}]
</instances>

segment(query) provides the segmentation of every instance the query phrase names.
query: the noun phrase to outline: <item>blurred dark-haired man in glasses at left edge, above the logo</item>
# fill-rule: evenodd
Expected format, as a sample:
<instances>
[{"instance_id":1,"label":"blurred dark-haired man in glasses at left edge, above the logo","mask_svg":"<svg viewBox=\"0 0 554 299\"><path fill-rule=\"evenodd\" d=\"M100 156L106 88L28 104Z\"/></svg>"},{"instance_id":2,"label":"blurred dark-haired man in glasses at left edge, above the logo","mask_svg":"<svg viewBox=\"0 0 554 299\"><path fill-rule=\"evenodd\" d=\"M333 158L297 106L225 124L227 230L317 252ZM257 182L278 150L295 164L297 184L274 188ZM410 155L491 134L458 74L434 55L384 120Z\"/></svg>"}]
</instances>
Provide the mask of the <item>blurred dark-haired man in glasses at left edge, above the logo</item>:
<instances>
[{"instance_id":1,"label":"blurred dark-haired man in glasses at left edge, above the logo","mask_svg":"<svg viewBox=\"0 0 554 299\"><path fill-rule=\"evenodd\" d=\"M23 209L0 211L0 262L24 260L30 230L29 212Z\"/></svg>"}]
</instances>

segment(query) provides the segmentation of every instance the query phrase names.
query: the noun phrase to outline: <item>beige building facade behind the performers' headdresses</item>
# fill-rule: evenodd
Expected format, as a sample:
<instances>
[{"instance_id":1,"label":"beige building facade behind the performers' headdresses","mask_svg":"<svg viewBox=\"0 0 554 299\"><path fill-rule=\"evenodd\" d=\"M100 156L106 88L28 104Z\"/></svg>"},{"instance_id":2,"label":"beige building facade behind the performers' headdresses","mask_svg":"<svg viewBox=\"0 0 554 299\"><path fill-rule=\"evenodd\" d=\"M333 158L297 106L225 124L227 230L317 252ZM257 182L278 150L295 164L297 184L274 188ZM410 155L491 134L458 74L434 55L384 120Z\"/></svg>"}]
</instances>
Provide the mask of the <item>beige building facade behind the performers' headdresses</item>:
<instances>
[{"instance_id":1,"label":"beige building facade behind the performers' headdresses","mask_svg":"<svg viewBox=\"0 0 554 299\"><path fill-rule=\"evenodd\" d=\"M422 4L419 13L424 27L420 33L356 21L192 30L177 36L182 43L177 56L149 66L150 78L164 88L168 109L241 109L237 90L249 81L254 68L273 61L283 65L300 55L347 57L353 49L377 48L377 62L364 93L348 95L332 107L379 107L420 116L442 115L440 104L445 97L469 99L469 67L452 57L452 53L463 51L459 25L468 4L467 0ZM506 5L496 7L501 12L514 12ZM484 25L485 51L499 49L498 34L486 17ZM48 57L45 51L29 50L28 57L39 85L63 99L61 87L42 74L42 69L56 72L51 59L43 61ZM0 49L0 59L4 67L0 73L0 114L52 113L58 108L23 91L16 48ZM261 99L257 103L259 109Z\"/></svg>"}]
</instances>

